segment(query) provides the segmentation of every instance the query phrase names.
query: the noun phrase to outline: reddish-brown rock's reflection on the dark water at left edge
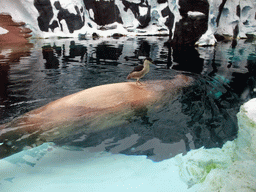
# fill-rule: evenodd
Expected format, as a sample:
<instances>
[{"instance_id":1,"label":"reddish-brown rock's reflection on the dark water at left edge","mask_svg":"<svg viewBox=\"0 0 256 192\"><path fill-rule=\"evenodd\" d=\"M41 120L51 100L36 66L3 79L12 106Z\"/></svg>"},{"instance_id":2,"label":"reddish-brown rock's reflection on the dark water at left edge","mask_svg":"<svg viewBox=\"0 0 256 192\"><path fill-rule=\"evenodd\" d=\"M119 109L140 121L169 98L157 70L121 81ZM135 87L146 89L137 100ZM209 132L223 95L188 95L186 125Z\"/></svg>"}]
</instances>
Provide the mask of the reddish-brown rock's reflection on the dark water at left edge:
<instances>
[{"instance_id":1,"label":"reddish-brown rock's reflection on the dark water at left edge","mask_svg":"<svg viewBox=\"0 0 256 192\"><path fill-rule=\"evenodd\" d=\"M27 43L15 46L2 46L0 48L0 117L5 118L4 111L11 108L12 101L23 102L27 100L24 95L24 90L21 87L26 87L30 84L30 79L24 77L23 72L19 69L19 65L23 65L22 58L31 56L33 44ZM10 73L13 74L13 79L9 78ZM24 78L22 78L24 77ZM13 88L13 91L10 90ZM5 110L1 110L5 109ZM19 110L19 109L16 109ZM9 111L8 111L9 112ZM12 113L12 112L11 112ZM24 111L23 111L24 113Z\"/></svg>"}]
</instances>

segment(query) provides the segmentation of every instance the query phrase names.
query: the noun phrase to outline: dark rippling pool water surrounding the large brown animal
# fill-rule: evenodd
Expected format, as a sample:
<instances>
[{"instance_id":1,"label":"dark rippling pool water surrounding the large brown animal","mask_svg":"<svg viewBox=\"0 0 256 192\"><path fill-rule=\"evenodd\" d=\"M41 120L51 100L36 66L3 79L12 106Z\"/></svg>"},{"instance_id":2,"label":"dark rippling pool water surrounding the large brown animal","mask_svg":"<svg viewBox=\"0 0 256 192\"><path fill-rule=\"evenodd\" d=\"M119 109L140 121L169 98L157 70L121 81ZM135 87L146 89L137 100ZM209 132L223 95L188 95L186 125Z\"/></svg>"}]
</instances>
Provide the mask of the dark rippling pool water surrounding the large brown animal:
<instances>
[{"instance_id":1,"label":"dark rippling pool water surrounding the large brown animal","mask_svg":"<svg viewBox=\"0 0 256 192\"><path fill-rule=\"evenodd\" d=\"M59 145L93 147L94 151L147 155L154 161L202 146L221 147L237 134L236 113L241 103L255 97L255 45L221 42L216 47L165 47L166 38L50 40L36 42L17 61L1 55L1 124L63 96L97 85L126 81L144 57L157 64L143 80L194 79L160 108L143 107L126 117L129 123L110 129L68 135ZM9 50L10 51L10 50ZM6 52L6 53L7 53ZM0 135L0 142L8 138ZM22 137L20 135L19 137ZM9 142L9 154L32 145L36 135ZM6 140L6 141L4 141ZM1 146L3 147L3 145Z\"/></svg>"}]
</instances>

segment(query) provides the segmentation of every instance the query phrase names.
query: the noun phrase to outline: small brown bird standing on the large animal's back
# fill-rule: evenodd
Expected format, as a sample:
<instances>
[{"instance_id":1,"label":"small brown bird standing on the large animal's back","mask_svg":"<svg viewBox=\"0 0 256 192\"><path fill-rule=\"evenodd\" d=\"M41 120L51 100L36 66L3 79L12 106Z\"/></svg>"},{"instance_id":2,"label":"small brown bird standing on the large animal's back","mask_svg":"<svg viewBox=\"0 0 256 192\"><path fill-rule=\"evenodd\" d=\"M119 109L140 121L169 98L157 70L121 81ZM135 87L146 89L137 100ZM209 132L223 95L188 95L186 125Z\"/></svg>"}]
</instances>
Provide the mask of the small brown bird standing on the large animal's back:
<instances>
[{"instance_id":1,"label":"small brown bird standing on the large animal's back","mask_svg":"<svg viewBox=\"0 0 256 192\"><path fill-rule=\"evenodd\" d=\"M143 65L134 67L133 71L127 76L127 79L137 79L136 84L139 83L142 85L139 80L149 72L149 64L154 64L154 62L151 58L147 57L144 60Z\"/></svg>"}]
</instances>

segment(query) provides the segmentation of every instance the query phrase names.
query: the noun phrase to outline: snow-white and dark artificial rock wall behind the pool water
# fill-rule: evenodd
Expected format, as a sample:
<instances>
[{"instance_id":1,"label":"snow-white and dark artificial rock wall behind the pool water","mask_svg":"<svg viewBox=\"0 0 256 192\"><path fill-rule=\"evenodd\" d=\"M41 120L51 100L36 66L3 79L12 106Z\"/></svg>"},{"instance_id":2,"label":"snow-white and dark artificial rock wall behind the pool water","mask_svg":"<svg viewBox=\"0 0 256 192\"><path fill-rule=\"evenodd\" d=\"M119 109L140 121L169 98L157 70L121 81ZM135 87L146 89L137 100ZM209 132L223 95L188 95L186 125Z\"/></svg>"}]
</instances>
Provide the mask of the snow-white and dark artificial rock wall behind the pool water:
<instances>
[{"instance_id":1,"label":"snow-white and dark artificial rock wall behind the pool water","mask_svg":"<svg viewBox=\"0 0 256 192\"><path fill-rule=\"evenodd\" d=\"M0 12L34 36L169 35L172 44L254 38L255 0L10 0Z\"/></svg>"}]
</instances>

